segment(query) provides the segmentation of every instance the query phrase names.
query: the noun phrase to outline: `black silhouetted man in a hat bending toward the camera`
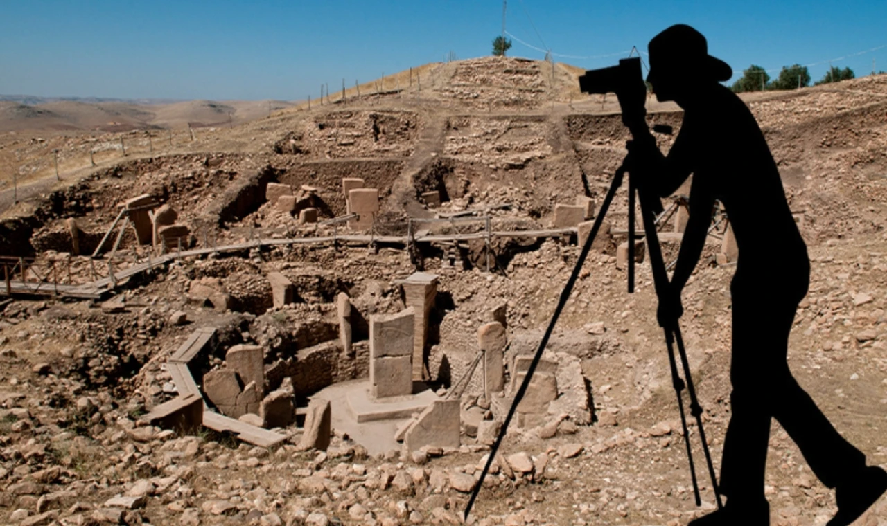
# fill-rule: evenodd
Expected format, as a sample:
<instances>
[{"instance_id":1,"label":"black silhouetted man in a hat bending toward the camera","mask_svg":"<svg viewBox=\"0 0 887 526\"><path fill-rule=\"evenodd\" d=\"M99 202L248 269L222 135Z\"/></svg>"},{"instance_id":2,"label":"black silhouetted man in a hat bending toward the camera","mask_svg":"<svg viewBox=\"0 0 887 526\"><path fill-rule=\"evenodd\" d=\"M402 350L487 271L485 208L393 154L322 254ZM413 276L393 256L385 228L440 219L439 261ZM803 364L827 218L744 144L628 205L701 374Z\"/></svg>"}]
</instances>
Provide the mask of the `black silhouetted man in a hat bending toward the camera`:
<instances>
[{"instance_id":1,"label":"black silhouetted man in a hat bending toward the camera","mask_svg":"<svg viewBox=\"0 0 887 526\"><path fill-rule=\"evenodd\" d=\"M632 156L655 174L648 183L662 197L694 174L690 219L670 288L660 298L660 323L668 326L683 313L680 293L703 251L716 199L739 247L730 287L733 414L719 484L727 502L691 524L770 523L764 472L771 418L822 483L836 489L838 511L828 526L850 524L887 489L887 473L866 467L865 456L837 433L789 371L789 331L807 293L810 260L764 135L742 100L718 83L733 72L708 54L705 37L694 28L672 26L656 35L649 58L656 98L679 104L684 121L667 157L652 136L635 137Z\"/></svg>"}]
</instances>

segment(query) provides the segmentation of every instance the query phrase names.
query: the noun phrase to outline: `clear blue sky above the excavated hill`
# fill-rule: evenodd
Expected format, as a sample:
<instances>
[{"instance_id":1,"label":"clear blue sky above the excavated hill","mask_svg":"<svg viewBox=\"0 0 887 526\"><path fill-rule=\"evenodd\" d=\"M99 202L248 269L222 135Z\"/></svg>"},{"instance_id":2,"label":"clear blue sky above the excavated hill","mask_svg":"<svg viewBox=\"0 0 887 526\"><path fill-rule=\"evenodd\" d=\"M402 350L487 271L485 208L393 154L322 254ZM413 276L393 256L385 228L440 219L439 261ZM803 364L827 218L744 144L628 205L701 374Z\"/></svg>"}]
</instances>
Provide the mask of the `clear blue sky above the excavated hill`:
<instances>
[{"instance_id":1,"label":"clear blue sky above the excavated hill","mask_svg":"<svg viewBox=\"0 0 887 526\"><path fill-rule=\"evenodd\" d=\"M577 2L508 0L506 29L576 57L646 50L674 23L706 35L734 67L811 64L887 44L887 2ZM302 2L3 0L0 94L44 97L302 99L381 73L488 55L502 29L500 0ZM513 39L510 55L544 54ZM836 61L858 76L887 47ZM611 58L558 58L585 68ZM811 66L814 80L828 63ZM777 73L773 73L774 76Z\"/></svg>"}]
</instances>

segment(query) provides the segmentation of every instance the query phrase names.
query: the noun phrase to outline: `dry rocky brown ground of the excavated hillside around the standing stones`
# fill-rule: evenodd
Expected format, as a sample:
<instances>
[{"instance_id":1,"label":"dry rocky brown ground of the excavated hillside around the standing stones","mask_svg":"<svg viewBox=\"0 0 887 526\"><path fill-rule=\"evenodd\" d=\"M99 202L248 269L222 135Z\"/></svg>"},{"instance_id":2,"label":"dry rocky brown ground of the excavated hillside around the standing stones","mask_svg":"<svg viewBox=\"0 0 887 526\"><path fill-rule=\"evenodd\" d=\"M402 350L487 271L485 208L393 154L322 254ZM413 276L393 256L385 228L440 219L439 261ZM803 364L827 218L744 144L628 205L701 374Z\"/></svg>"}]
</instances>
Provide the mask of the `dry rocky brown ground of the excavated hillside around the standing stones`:
<instances>
[{"instance_id":1,"label":"dry rocky brown ground of the excavated hillside around the standing stones","mask_svg":"<svg viewBox=\"0 0 887 526\"><path fill-rule=\"evenodd\" d=\"M68 254L65 220L75 218L82 243L94 246L118 204L142 194L177 210L194 248L347 231L300 224L298 215L265 201L269 182L313 199L320 219L331 220L346 213L341 179L361 177L380 190L378 236L405 236L408 220L446 214L489 217L495 231L539 230L551 226L556 204L587 196L600 205L628 138L614 96L583 96L575 68L546 62L481 58L420 71L418 81L400 74L393 87L389 80L375 92L362 85L359 98L353 89L344 100L334 97L335 104L291 107L232 128L199 128L193 140L179 131L171 145L165 131L150 142L143 131L2 134L0 171L17 170L30 186L19 189L18 204L8 185L0 190L0 254L34 257L35 267L60 257L71 267L64 282L73 285L106 275L109 265L121 272L145 260L149 247L128 232L113 261L106 253L90 267L88 257ZM746 98L812 261L789 365L836 429L870 464L883 467L885 97L887 76L880 75ZM676 106L651 100L648 110L651 125L679 131ZM121 138L129 144L125 158L117 150ZM666 151L673 136L658 140ZM45 161L55 149L60 182ZM421 196L432 190L441 205ZM607 218L615 234L604 236L586 261L548 345L552 356L581 369L592 422L548 414L538 425L513 426L469 522L675 526L714 509L698 429L690 422L703 506L694 503L648 261L638 266L633 295L616 267L616 244L624 240L616 232L626 228L627 215L623 189ZM484 220L434 223L425 234L479 233ZM735 268L716 263L720 246L714 238L706 246L687 284L682 318L716 469L730 417ZM667 260L677 248L674 240L663 242ZM300 451L301 416L298 425L280 430L292 437L272 449L208 430L178 437L137 420L176 395L166 360L194 329L215 327L224 345L262 345L268 371L298 371L306 349L338 337L338 293L347 293L365 317L395 313L404 308L398 282L418 267L439 275L430 382L451 388L475 357L477 329L495 306L506 306L507 354L535 351L579 252L575 236L502 237L490 249L483 240L409 249L381 242L304 244L177 259L110 290L123 305L119 312L101 308L100 300L6 302L0 296L0 522L462 522L467 490L489 453L482 437L465 433L458 449L443 452L370 456L335 430L326 452ZM294 304L271 305L270 272L294 283ZM224 294L227 308L201 297L195 284ZM187 322L174 321L177 313ZM345 364L355 377L365 366L360 356L352 360L356 365ZM223 359L224 351L206 357L200 375ZM294 392L300 407L313 394L298 383ZM475 379L463 395L463 414L483 406L480 392ZM499 415L494 402L488 416ZM813 476L776 423L765 492L773 524L822 525L836 510L833 491ZM132 499L126 505L111 500L118 495ZM887 500L857 524L887 525Z\"/></svg>"}]
</instances>

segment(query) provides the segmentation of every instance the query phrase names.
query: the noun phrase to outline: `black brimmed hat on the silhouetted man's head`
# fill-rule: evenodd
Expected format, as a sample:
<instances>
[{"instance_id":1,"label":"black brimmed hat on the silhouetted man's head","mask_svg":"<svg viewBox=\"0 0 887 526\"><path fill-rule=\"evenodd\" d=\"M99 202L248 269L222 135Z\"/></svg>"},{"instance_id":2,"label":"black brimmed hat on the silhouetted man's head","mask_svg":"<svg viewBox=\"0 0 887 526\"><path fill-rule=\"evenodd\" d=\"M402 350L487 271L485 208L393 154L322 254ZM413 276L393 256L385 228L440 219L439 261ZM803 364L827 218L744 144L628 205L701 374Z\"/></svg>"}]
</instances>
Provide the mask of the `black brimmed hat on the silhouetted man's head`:
<instances>
[{"instance_id":1,"label":"black brimmed hat on the silhouetted man's head","mask_svg":"<svg viewBox=\"0 0 887 526\"><path fill-rule=\"evenodd\" d=\"M733 69L720 58L709 55L709 44L702 33L687 24L677 24L655 35L648 45L650 76L665 75L670 70L687 69L714 81L727 81ZM678 73L678 72L675 72Z\"/></svg>"}]
</instances>

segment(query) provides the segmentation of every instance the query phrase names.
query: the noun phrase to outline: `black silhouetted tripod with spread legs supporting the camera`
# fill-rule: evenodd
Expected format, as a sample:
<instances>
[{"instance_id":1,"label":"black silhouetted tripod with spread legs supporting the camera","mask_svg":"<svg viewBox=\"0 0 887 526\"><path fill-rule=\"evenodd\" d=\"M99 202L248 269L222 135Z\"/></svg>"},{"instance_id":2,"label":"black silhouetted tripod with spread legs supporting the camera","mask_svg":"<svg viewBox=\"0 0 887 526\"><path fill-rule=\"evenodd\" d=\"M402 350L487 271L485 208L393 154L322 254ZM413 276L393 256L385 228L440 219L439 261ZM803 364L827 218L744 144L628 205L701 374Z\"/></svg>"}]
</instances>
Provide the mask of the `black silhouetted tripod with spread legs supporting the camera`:
<instances>
[{"instance_id":1,"label":"black silhouetted tripod with spread legs supporting the camera","mask_svg":"<svg viewBox=\"0 0 887 526\"><path fill-rule=\"evenodd\" d=\"M624 116L624 123L628 126L629 130L632 132L632 136L640 136L640 132L648 134L647 122L645 120L646 112L643 110L643 107L640 108L640 111L633 112L630 117ZM640 127L643 127L641 130ZM662 128L655 128L662 129ZM669 128L669 131L670 128ZM498 452L499 445L502 444L502 440L506 435L506 431L508 429L508 424L511 423L512 418L514 417L514 413L517 411L517 406L521 403L523 396L526 394L528 387L530 386L530 379L532 378L533 373L536 371L536 367L538 366L539 360L542 358L542 353L546 349L546 345L548 344L548 340L552 335L554 325L557 323L558 318L561 316L561 311L563 311L563 307L566 306L567 301L569 300L570 293L573 290L573 287L576 285L576 281L579 277L579 272L582 270L582 266L585 264L585 258L588 256L588 252L592 249L592 244L594 243L595 237L598 235L600 231L600 225L603 223L604 217L608 213L609 206L613 202L613 198L616 196L616 190L618 190L623 183L624 176L626 173L629 174L628 178L628 291L634 291L634 226L635 226L635 198L640 202L640 216L644 226L644 235L647 238L650 266L653 270L653 282L656 291L656 295L661 299L663 295L666 294L666 289L669 286L669 278L668 273L665 269L665 263L663 261L662 248L659 245L659 237L656 234L656 225L655 225L655 212L662 209L662 203L659 198L655 195L653 189L649 188L648 184L643 184L644 181L647 180L648 174L642 173L642 168L640 165L634 162L635 159L632 159L632 154L630 153L623 160L622 166L616 170L616 173L613 176L613 181L610 183L609 190L607 191L606 197L604 197L603 204L600 206L600 213L594 220L594 224L592 226L592 231L589 234L588 238L585 240L585 244L582 246L582 251L579 252L579 258L576 262L576 267L573 268L573 272L569 275L569 279L567 280L567 284L564 286L564 289L561 291L561 298L558 301L558 305L554 309L554 313L552 315L551 321L548 323L548 328L546 329L546 333L542 336L542 340L539 342L538 349L536 350L536 354L533 356L533 360L530 362L530 367L527 369L526 376L523 378L523 382L521 383L520 388L518 388L517 392L514 395L514 402L508 410L508 414L506 415L505 421L502 422L502 428L499 429L498 437L496 437L496 442L493 443L490 456L487 458L486 464L483 466L483 471L481 472L481 476L475 484L474 490L471 492L471 497L468 499L468 504L465 508L465 518L467 519L468 513L471 511L471 507L474 506L475 499L477 499L478 493L481 491L481 487L483 486L483 479L486 477L487 473L490 470L493 459L496 457L496 453ZM635 172L632 174L632 169ZM640 184L638 184L640 182ZM695 417L696 427L699 429L699 437L702 440L703 445L703 453L705 455L705 461L708 466L709 476L711 477L711 485L715 491L715 499L718 502L718 508L722 507L723 504L721 502L720 493L718 492L718 479L715 476L714 465L711 462L711 454L709 452L709 446L705 439L705 431L703 429L703 408L699 405L699 400L696 398L696 391L693 384L693 379L690 377L690 365L687 360L687 352L684 349L684 340L680 333L680 327L678 320L675 319L667 324L667 326L663 327L665 333L665 344L668 348L669 355L669 365L671 368L671 383L674 387L674 391L678 396L678 407L680 412L680 423L684 431L684 440L687 445L687 458L690 464L690 476L693 481L693 492L695 496L696 506L702 505L702 499L699 494L699 483L696 480L696 470L695 463L693 460L693 451L690 445L690 435L687 432L687 414L684 412L684 401L683 401L683 391L686 389L687 394L690 398L690 414ZM678 359L675 356L675 346L678 348L679 360L681 363L681 367L684 370L684 378L680 377L678 370ZM685 381L686 379L686 381Z\"/></svg>"}]
</instances>

